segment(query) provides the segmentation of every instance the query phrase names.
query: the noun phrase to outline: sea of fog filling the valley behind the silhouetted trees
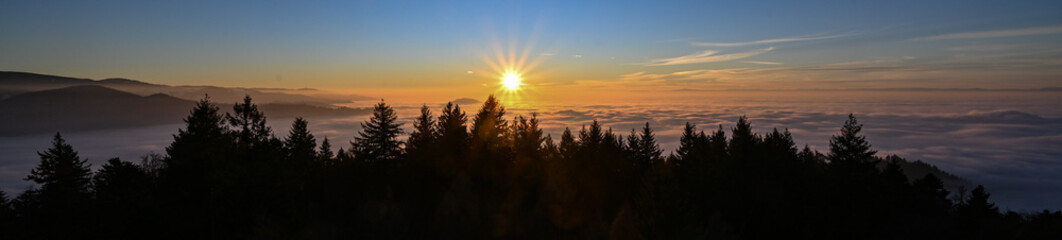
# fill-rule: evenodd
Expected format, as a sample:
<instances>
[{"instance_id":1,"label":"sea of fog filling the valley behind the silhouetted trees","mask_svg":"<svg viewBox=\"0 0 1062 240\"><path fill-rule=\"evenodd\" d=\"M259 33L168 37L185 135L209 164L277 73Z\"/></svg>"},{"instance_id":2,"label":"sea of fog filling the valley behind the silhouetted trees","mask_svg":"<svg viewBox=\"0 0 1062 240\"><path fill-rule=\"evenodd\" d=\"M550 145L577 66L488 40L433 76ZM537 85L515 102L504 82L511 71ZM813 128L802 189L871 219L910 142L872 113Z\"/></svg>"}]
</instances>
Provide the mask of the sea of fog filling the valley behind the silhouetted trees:
<instances>
[{"instance_id":1,"label":"sea of fog filling the valley behind the silhouetted trees","mask_svg":"<svg viewBox=\"0 0 1062 240\"><path fill-rule=\"evenodd\" d=\"M679 92L636 101L556 103L548 95L503 100L509 117L536 114L543 128L559 139L564 127L578 131L593 120L619 134L649 122L660 143L671 151L683 124L705 132L720 124L730 130L739 116L752 120L758 133L788 130L798 144L827 151L852 113L879 154L923 160L982 184L1005 209L1062 209L1062 95L1049 91L742 91ZM478 98L482 100L482 98ZM389 101L406 127L422 104ZM372 103L357 103L369 106ZM439 113L442 103L427 103ZM465 104L472 116L478 104ZM266 113L267 116L269 113ZM310 131L332 147L348 148L367 116L313 118ZM75 119L71 119L75 121ZM284 137L292 119L269 119ZM139 161L164 153L182 124L63 133L80 155L98 168L108 158ZM0 136L0 189L21 192L32 185L22 178L37 165L53 134Z\"/></svg>"}]
</instances>

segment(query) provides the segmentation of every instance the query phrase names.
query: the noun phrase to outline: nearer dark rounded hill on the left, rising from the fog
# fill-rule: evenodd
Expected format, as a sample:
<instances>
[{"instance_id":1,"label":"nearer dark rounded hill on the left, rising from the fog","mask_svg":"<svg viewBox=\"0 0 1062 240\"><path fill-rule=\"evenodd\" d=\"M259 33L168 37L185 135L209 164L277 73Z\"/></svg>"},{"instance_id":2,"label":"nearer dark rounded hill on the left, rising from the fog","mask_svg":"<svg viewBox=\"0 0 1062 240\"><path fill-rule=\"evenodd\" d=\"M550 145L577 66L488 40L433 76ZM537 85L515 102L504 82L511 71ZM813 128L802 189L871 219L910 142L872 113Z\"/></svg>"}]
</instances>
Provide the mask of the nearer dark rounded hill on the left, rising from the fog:
<instances>
[{"instance_id":1,"label":"nearer dark rounded hill on the left, rising from the fog","mask_svg":"<svg viewBox=\"0 0 1062 240\"><path fill-rule=\"evenodd\" d=\"M135 84L135 83L134 83ZM25 92L0 100L0 136L181 123L194 101L164 93L139 96L99 85ZM219 103L222 112L232 103ZM362 108L259 104L270 117L355 116Z\"/></svg>"}]
</instances>

